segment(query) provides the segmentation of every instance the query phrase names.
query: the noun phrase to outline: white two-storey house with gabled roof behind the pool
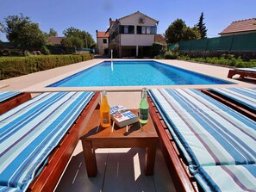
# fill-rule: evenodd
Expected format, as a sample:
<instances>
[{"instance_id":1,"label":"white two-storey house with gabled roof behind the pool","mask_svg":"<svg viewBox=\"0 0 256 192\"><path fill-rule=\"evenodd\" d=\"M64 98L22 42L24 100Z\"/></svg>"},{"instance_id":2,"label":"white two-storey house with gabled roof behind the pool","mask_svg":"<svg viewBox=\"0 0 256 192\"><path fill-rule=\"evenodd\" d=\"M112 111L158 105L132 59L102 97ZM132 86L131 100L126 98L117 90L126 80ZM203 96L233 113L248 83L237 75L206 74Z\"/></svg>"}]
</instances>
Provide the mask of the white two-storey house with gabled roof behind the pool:
<instances>
[{"instance_id":1,"label":"white two-storey house with gabled roof behind the pool","mask_svg":"<svg viewBox=\"0 0 256 192\"><path fill-rule=\"evenodd\" d=\"M120 58L151 56L158 21L137 11L109 22L109 50Z\"/></svg>"}]
</instances>

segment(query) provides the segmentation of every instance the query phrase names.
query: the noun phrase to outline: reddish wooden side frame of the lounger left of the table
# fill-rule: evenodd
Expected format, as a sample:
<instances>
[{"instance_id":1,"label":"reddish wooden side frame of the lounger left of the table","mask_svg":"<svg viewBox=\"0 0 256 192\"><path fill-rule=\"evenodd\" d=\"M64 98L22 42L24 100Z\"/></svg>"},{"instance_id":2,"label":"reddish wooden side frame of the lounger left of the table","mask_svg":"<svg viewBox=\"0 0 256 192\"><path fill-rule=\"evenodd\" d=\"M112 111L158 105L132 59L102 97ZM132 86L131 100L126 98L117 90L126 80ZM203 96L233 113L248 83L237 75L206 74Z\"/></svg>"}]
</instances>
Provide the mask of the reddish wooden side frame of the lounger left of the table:
<instances>
[{"instance_id":1,"label":"reddish wooden side frame of the lounger left of the table","mask_svg":"<svg viewBox=\"0 0 256 192\"><path fill-rule=\"evenodd\" d=\"M78 144L78 140L84 131L84 127L90 120L92 112L99 103L100 96L97 92L87 104L72 127L60 140L59 146L51 153L47 164L41 170L39 176L34 178L27 191L53 191L59 181L59 177L66 168L72 152Z\"/></svg>"}]
</instances>

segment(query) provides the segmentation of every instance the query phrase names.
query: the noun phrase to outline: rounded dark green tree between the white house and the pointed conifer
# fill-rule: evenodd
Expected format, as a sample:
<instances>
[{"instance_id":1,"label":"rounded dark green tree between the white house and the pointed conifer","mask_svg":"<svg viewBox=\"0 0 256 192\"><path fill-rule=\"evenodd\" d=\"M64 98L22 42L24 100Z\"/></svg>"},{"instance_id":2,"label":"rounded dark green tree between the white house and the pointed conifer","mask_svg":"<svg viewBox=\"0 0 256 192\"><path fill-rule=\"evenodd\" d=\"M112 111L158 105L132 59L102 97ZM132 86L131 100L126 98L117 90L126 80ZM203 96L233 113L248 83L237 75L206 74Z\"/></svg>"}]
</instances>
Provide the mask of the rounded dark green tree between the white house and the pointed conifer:
<instances>
[{"instance_id":1,"label":"rounded dark green tree between the white house and the pointed conifer","mask_svg":"<svg viewBox=\"0 0 256 192\"><path fill-rule=\"evenodd\" d=\"M177 19L165 31L167 43L176 43L183 40L197 40L199 38L197 28L187 27L185 22Z\"/></svg>"}]
</instances>

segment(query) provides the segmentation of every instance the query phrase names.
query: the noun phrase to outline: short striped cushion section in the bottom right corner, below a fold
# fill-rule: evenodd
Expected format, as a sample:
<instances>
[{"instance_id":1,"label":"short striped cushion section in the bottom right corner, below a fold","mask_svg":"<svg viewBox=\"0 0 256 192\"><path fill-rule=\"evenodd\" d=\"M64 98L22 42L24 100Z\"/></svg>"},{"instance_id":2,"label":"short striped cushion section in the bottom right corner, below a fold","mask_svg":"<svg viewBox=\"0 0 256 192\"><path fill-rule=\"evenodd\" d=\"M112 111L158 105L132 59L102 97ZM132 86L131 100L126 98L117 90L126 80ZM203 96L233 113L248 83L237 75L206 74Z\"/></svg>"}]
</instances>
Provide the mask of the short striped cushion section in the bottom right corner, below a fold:
<instances>
[{"instance_id":1,"label":"short striped cushion section in the bottom right corner, below a fold","mask_svg":"<svg viewBox=\"0 0 256 192\"><path fill-rule=\"evenodd\" d=\"M195 177L204 191L256 191L256 164L201 167Z\"/></svg>"}]
</instances>

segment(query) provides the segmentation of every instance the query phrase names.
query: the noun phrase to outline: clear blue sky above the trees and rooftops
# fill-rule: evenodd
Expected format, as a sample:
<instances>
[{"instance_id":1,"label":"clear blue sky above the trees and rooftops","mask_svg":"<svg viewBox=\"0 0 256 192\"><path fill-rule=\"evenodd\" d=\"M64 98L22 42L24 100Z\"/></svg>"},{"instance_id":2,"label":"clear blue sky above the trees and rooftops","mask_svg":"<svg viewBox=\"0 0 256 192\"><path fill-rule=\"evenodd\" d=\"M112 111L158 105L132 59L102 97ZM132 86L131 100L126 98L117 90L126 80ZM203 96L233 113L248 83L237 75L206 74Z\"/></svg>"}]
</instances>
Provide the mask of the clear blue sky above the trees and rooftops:
<instances>
[{"instance_id":1,"label":"clear blue sky above the trees and rooftops","mask_svg":"<svg viewBox=\"0 0 256 192\"><path fill-rule=\"evenodd\" d=\"M204 13L208 37L216 37L231 22L256 18L256 0L1 0L0 21L8 15L29 16L42 31L54 28L63 36L66 28L88 31L96 40L96 30L104 31L113 20L138 10L159 21L158 34L164 34L176 19L187 26L197 24ZM6 41L0 33L0 40Z\"/></svg>"}]
</instances>

